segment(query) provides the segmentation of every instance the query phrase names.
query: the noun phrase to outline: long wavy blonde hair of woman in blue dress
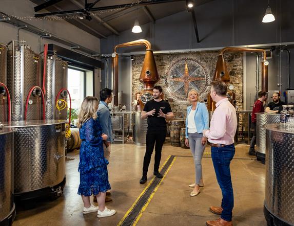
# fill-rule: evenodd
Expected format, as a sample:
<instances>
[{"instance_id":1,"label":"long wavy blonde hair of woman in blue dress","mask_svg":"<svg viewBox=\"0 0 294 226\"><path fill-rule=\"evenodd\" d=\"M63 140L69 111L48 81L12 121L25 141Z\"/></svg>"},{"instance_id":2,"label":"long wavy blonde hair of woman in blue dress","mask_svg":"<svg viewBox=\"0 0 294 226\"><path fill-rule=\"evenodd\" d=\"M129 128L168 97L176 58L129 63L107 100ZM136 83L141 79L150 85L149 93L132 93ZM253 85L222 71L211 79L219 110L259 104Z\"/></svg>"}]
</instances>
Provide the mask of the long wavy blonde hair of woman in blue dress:
<instances>
[{"instance_id":1,"label":"long wavy blonde hair of woman in blue dress","mask_svg":"<svg viewBox=\"0 0 294 226\"><path fill-rule=\"evenodd\" d=\"M77 127L81 128L83 123L87 122L90 118L97 118L96 107L98 104L99 100L96 97L85 97L81 105L79 116L77 116Z\"/></svg>"}]
</instances>

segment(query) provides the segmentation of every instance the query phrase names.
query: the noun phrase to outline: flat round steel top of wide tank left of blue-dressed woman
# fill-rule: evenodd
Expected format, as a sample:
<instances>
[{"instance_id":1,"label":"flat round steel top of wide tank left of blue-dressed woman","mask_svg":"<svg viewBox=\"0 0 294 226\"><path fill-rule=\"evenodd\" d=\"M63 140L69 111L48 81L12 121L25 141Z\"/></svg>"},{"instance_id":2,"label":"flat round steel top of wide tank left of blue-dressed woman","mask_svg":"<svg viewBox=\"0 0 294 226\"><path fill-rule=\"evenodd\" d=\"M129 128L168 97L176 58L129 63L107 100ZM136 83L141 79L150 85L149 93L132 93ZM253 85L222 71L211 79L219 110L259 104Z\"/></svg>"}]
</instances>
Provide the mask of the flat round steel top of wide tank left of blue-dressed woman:
<instances>
[{"instance_id":1,"label":"flat round steel top of wide tank left of blue-dressed woman","mask_svg":"<svg viewBox=\"0 0 294 226\"><path fill-rule=\"evenodd\" d=\"M27 121L13 121L10 123L5 123L4 126L7 127L30 127L30 126L46 126L46 125L56 125L61 123L66 123L66 120L27 120Z\"/></svg>"}]
</instances>

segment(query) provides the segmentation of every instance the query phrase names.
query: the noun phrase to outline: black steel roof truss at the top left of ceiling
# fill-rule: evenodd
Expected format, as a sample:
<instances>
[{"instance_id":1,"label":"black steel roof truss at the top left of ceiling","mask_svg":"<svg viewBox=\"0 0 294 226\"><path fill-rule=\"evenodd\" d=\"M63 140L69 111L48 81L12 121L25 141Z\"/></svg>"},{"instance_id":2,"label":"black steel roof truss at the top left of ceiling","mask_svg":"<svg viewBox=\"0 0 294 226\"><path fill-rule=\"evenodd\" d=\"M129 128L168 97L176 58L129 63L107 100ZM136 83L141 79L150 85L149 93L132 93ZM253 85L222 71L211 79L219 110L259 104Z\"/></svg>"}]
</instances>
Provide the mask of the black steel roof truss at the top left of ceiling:
<instances>
[{"instance_id":1,"label":"black steel roof truss at the top left of ceiling","mask_svg":"<svg viewBox=\"0 0 294 226\"><path fill-rule=\"evenodd\" d=\"M45 9L49 6L52 6L58 2L61 2L63 0L49 0L46 3L43 3L41 5L38 5L34 7L35 12L40 11L42 9ZM144 6L144 5L151 5L151 4L159 4L159 3L168 3L168 2L178 2L178 1L184 1L184 0L147 0L147 1L138 1L137 3L129 3L129 4L122 4L122 5L114 5L114 6L104 6L104 7L98 7L93 8L96 3L98 3L100 0L96 0L92 3L88 3L87 0L85 0L85 8L84 9L76 9L76 10L68 10L68 11L59 11L59 12L50 12L50 13L38 13L35 14L35 17L44 17L44 16L52 16L52 15L64 15L64 14L72 14L72 13L80 13L82 14L87 20L91 20L90 12L92 11L100 11L100 10L108 10L108 9L120 9L120 8L128 8L133 6Z\"/></svg>"}]
</instances>

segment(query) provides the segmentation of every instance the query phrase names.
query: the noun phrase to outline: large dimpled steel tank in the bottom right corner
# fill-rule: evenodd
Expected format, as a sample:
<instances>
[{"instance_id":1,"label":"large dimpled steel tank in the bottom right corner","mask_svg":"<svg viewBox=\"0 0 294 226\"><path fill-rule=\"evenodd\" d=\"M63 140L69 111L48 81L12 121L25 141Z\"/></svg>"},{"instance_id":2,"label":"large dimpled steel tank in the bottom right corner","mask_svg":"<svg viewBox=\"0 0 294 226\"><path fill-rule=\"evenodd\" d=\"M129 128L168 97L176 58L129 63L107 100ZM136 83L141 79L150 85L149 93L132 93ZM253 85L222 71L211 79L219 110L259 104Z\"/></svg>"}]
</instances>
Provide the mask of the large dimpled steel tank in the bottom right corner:
<instances>
[{"instance_id":1,"label":"large dimpled steel tank in the bottom right corner","mask_svg":"<svg viewBox=\"0 0 294 226\"><path fill-rule=\"evenodd\" d=\"M264 215L267 225L294 225L294 129L266 126Z\"/></svg>"}]
</instances>

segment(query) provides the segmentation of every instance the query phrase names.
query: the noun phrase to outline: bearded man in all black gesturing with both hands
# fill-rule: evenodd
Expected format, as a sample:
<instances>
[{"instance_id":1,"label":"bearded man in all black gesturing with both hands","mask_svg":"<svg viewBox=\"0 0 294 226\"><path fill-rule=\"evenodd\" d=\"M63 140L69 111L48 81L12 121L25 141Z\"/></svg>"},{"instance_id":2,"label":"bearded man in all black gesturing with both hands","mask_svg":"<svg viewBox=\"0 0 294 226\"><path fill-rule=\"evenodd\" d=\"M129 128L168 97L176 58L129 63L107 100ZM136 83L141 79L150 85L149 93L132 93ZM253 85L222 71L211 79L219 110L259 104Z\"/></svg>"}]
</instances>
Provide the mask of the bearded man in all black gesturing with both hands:
<instances>
[{"instance_id":1,"label":"bearded man in all black gesturing with both hands","mask_svg":"<svg viewBox=\"0 0 294 226\"><path fill-rule=\"evenodd\" d=\"M159 85L154 86L154 99L148 101L141 112L141 119L146 119L148 117L148 129L146 134L146 152L143 162L143 176L140 180L140 184L145 184L147 182L147 172L154 145L155 157L153 175L159 178L163 177L159 172L161 150L166 137L166 119L171 120L173 118L173 113L169 103L162 100L161 95L162 87Z\"/></svg>"}]
</instances>

